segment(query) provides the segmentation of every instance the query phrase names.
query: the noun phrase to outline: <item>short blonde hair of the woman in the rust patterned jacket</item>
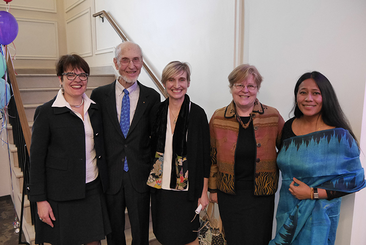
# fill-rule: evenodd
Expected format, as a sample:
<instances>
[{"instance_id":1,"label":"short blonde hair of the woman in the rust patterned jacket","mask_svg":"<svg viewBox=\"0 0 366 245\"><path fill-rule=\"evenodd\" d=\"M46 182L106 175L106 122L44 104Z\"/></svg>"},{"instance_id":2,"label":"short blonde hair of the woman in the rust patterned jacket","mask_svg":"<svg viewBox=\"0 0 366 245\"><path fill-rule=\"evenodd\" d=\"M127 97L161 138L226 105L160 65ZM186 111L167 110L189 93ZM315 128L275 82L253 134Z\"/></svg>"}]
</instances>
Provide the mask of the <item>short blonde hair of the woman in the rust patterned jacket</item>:
<instances>
[{"instance_id":1,"label":"short blonde hair of the woman in the rust patterned jacket","mask_svg":"<svg viewBox=\"0 0 366 245\"><path fill-rule=\"evenodd\" d=\"M253 75L254 81L257 84L257 88L259 90L263 78L260 76L258 69L255 66L251 66L249 64L239 65L229 74L229 87L232 88L235 83L240 83L247 80L250 75Z\"/></svg>"}]
</instances>

